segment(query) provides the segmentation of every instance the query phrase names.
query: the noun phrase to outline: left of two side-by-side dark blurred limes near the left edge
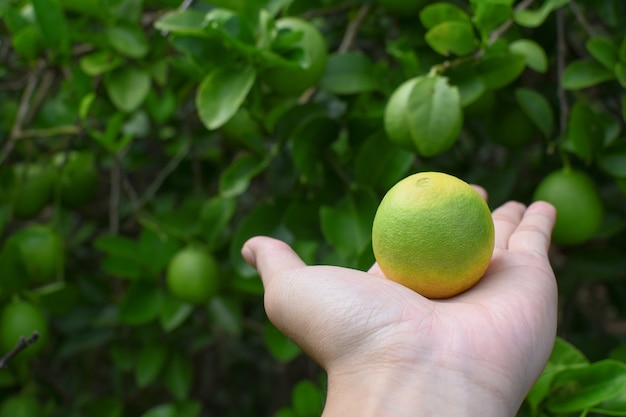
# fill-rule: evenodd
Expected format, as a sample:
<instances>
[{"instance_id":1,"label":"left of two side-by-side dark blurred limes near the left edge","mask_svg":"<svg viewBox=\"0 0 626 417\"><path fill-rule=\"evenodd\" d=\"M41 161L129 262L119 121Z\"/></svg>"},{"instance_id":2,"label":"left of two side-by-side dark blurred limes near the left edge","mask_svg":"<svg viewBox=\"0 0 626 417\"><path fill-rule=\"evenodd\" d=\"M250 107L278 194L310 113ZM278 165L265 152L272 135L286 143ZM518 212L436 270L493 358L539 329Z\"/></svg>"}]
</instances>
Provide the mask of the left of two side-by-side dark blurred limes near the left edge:
<instances>
[{"instance_id":1,"label":"left of two side-by-side dark blurred limes near the left edge","mask_svg":"<svg viewBox=\"0 0 626 417\"><path fill-rule=\"evenodd\" d=\"M13 215L31 219L50 202L55 182L50 166L17 164L13 173Z\"/></svg>"}]
</instances>

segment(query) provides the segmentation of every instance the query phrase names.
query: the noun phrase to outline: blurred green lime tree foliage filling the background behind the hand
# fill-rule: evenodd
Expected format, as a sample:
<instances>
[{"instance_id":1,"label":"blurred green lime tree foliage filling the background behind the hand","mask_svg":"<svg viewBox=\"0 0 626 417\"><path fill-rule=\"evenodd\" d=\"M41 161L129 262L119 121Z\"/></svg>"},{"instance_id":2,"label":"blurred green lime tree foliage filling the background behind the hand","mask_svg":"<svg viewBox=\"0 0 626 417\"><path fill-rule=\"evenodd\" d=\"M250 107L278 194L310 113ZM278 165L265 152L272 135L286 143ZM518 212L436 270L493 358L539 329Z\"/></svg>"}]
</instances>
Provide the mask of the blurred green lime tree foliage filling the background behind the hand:
<instances>
[{"instance_id":1,"label":"blurred green lime tree foliage filling the background behind the hand","mask_svg":"<svg viewBox=\"0 0 626 417\"><path fill-rule=\"evenodd\" d=\"M319 415L241 245L366 269L424 170L492 208L587 178L556 193L593 227L552 248L560 338L520 415L626 415L624 28L622 0L0 0L0 357L40 336L0 416Z\"/></svg>"}]
</instances>

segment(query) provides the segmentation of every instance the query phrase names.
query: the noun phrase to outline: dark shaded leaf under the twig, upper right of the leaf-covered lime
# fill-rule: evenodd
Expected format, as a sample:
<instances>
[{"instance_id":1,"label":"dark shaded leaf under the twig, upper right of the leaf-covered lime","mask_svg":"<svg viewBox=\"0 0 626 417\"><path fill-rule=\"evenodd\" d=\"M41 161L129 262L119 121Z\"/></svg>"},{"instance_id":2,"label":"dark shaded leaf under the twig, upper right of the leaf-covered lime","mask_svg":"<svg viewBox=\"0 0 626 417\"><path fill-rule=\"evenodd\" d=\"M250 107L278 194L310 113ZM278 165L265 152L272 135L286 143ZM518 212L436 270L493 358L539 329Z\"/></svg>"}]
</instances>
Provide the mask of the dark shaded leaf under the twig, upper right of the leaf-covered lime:
<instances>
[{"instance_id":1,"label":"dark shaded leaf under the twig, upper right of the leaf-covered lime","mask_svg":"<svg viewBox=\"0 0 626 417\"><path fill-rule=\"evenodd\" d=\"M497 90L513 82L524 72L524 68L524 55L504 52L481 59L476 66L476 73L487 88Z\"/></svg>"}]
</instances>

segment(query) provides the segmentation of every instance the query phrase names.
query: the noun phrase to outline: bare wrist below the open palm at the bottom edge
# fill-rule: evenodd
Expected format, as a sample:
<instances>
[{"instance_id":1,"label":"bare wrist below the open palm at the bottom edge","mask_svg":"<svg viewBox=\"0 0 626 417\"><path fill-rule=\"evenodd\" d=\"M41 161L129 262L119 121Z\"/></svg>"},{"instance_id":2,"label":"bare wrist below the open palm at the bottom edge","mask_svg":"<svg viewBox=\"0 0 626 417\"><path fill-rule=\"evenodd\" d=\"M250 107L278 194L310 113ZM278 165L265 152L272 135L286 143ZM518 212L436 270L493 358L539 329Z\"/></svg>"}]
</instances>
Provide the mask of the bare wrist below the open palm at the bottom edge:
<instances>
[{"instance_id":1,"label":"bare wrist below the open palm at the bottom edge","mask_svg":"<svg viewBox=\"0 0 626 417\"><path fill-rule=\"evenodd\" d=\"M367 374L331 370L322 417L514 416L519 404L481 380L437 366Z\"/></svg>"}]
</instances>

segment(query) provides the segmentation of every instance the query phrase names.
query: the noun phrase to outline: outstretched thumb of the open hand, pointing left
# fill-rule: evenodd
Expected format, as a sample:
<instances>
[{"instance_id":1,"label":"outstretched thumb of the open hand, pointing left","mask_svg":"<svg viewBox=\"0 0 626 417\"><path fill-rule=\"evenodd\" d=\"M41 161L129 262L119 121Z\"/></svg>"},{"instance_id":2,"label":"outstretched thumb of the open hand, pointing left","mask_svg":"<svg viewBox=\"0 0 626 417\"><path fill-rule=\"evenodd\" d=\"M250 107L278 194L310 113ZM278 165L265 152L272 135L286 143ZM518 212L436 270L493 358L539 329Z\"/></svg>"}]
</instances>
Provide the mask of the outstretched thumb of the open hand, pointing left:
<instances>
[{"instance_id":1,"label":"outstretched thumb of the open hand, pointing left","mask_svg":"<svg viewBox=\"0 0 626 417\"><path fill-rule=\"evenodd\" d=\"M259 272L264 287L281 273L305 266L289 245L265 236L249 239L244 243L241 254Z\"/></svg>"}]
</instances>

